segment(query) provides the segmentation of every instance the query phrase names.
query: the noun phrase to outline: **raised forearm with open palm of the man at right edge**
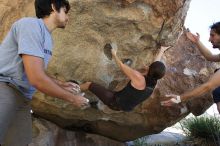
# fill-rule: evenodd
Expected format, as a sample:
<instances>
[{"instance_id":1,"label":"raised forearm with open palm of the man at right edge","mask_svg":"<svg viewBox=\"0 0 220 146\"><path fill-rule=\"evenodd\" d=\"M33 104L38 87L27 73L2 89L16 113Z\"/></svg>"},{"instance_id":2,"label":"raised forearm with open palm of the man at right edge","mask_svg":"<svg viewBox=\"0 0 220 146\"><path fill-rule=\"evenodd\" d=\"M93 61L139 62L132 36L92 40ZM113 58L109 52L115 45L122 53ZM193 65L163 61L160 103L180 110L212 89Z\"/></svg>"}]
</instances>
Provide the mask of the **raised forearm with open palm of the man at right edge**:
<instances>
[{"instance_id":1,"label":"raised forearm with open palm of the man at right edge","mask_svg":"<svg viewBox=\"0 0 220 146\"><path fill-rule=\"evenodd\" d=\"M208 60L208 61L214 61L214 62L218 62L220 61L220 56L219 54L212 54L212 52L203 45L203 43L199 40L200 39L200 35L198 33L193 34L190 31L186 32L186 36L187 38L192 41L198 48L199 51L202 53L202 55Z\"/></svg>"}]
</instances>

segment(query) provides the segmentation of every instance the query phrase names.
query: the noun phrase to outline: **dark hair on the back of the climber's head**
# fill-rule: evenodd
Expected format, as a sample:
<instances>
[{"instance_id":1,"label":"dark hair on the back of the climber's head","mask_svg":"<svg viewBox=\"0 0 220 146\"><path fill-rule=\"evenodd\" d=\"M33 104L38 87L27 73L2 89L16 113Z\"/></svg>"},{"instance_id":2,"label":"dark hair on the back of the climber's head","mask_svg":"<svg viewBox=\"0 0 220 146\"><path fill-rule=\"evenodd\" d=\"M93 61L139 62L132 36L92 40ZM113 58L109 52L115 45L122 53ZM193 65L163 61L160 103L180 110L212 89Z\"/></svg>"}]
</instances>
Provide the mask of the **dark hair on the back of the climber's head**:
<instances>
[{"instance_id":1,"label":"dark hair on the back of the climber's head","mask_svg":"<svg viewBox=\"0 0 220 146\"><path fill-rule=\"evenodd\" d=\"M154 87L157 84L157 80L161 79L166 73L165 65L160 61L155 61L149 66L149 71L145 76L145 80L148 86Z\"/></svg>"}]
</instances>

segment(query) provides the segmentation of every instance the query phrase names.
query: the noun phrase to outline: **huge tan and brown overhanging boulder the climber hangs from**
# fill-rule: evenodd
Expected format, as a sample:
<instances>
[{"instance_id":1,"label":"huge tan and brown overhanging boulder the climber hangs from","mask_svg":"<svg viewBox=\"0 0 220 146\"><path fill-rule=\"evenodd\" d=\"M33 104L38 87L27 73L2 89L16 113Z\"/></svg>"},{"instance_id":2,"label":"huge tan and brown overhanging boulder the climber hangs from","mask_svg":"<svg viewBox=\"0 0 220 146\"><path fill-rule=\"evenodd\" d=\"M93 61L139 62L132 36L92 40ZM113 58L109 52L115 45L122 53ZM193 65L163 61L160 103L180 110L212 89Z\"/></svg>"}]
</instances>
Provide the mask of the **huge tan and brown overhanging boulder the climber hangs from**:
<instances>
[{"instance_id":1,"label":"huge tan and brown overhanging boulder the climber hangs from","mask_svg":"<svg viewBox=\"0 0 220 146\"><path fill-rule=\"evenodd\" d=\"M152 62L159 45L173 45L164 56L167 74L154 94L132 112L114 112L105 106L101 110L80 110L37 92L32 102L34 113L69 130L119 141L158 133L190 112L203 113L212 104L210 95L171 109L160 106L165 94L190 90L206 81L213 71L195 46L184 34L181 36L189 3L190 0L70 0L68 26L53 33L55 47L48 74L60 80L94 81L112 90L121 89L127 79L104 52L111 42L117 43L118 56L131 59L131 67L136 69ZM17 18L34 14L33 0L0 1L0 7L0 31L4 35ZM18 12L16 16L14 12ZM85 97L98 101L89 92Z\"/></svg>"}]
</instances>

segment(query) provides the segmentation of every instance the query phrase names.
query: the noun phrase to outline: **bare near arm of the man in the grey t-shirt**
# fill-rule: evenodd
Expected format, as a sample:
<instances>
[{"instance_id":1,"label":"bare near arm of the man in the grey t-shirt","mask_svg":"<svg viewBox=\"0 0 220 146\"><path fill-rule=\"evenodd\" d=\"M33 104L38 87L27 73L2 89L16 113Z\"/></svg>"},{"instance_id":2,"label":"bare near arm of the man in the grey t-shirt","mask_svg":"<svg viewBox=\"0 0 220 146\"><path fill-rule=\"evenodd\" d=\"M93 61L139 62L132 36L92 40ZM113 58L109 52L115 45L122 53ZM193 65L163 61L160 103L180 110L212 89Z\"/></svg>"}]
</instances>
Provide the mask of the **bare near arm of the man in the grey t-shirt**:
<instances>
[{"instance_id":1,"label":"bare near arm of the man in the grey t-shirt","mask_svg":"<svg viewBox=\"0 0 220 146\"><path fill-rule=\"evenodd\" d=\"M28 80L39 91L53 97L67 100L77 107L82 107L88 104L86 98L73 95L71 92L63 89L56 84L53 79L47 76L44 71L44 62L42 58L22 55L22 60Z\"/></svg>"}]
</instances>

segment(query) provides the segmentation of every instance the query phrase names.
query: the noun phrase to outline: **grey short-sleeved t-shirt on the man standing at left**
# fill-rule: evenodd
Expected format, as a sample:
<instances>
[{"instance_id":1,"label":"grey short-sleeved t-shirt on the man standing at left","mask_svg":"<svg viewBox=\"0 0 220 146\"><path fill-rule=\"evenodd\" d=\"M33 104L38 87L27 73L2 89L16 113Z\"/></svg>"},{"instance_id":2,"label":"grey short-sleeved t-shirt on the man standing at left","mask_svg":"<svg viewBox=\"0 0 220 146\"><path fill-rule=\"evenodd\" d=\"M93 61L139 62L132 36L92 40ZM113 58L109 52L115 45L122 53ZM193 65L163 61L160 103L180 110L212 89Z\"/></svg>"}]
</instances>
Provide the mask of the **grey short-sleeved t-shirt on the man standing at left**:
<instances>
[{"instance_id":1,"label":"grey short-sleeved t-shirt on the man standing at left","mask_svg":"<svg viewBox=\"0 0 220 146\"><path fill-rule=\"evenodd\" d=\"M0 81L14 84L27 98L35 88L24 71L21 54L43 58L45 68L52 56L53 40L42 19L16 21L0 46Z\"/></svg>"}]
</instances>

